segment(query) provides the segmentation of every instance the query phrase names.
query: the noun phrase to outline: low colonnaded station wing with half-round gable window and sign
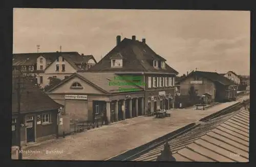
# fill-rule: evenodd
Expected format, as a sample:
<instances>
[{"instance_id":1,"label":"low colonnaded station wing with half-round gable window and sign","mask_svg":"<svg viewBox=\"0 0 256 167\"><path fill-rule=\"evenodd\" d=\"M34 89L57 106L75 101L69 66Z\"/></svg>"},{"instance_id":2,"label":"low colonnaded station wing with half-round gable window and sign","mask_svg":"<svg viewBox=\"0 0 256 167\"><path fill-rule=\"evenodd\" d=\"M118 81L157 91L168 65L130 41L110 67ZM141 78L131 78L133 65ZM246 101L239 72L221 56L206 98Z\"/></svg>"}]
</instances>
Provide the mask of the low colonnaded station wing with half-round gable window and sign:
<instances>
[{"instance_id":1,"label":"low colonnaded station wing with half-round gable window and sign","mask_svg":"<svg viewBox=\"0 0 256 167\"><path fill-rule=\"evenodd\" d=\"M65 106L71 121L92 121L103 111L104 120L108 123L142 115L143 88L127 85L119 90L118 85L110 84L116 77L114 73L75 73L47 93Z\"/></svg>"}]
</instances>

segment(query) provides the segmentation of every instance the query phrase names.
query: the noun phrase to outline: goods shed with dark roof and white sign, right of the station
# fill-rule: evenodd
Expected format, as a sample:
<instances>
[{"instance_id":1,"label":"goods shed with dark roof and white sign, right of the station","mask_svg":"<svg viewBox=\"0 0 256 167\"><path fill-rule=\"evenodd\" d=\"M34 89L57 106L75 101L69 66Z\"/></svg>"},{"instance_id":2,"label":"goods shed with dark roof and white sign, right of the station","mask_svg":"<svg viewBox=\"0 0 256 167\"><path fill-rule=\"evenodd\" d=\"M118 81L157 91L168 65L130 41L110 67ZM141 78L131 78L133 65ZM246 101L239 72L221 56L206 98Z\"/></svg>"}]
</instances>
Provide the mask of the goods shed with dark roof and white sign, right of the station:
<instances>
[{"instance_id":1,"label":"goods shed with dark roof and white sign, right of the station","mask_svg":"<svg viewBox=\"0 0 256 167\"><path fill-rule=\"evenodd\" d=\"M198 96L211 95L215 102L223 102L237 97L237 85L226 77L212 72L193 71L180 80L181 96L187 96L191 86L195 87Z\"/></svg>"}]
</instances>

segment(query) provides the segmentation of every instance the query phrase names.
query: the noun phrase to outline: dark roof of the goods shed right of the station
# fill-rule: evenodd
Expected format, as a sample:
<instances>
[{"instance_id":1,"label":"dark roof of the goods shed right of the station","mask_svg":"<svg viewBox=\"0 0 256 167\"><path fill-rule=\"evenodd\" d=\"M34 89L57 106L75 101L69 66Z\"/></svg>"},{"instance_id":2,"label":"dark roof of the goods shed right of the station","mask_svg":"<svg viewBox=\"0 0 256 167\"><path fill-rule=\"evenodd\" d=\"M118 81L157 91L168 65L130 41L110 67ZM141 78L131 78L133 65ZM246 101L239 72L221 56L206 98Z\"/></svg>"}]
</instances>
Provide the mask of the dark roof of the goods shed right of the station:
<instances>
[{"instance_id":1,"label":"dark roof of the goods shed right of the station","mask_svg":"<svg viewBox=\"0 0 256 167\"><path fill-rule=\"evenodd\" d=\"M236 83L234 83L233 81L229 80L228 78L218 74L218 73L214 73L214 72L206 72L206 71L194 71L191 72L190 74L188 74L187 77L182 78L180 80L180 82L184 81L186 78L190 77L190 76L201 76L204 78L207 78L209 80L211 80L212 82L218 82L222 85L236 85Z\"/></svg>"}]
</instances>

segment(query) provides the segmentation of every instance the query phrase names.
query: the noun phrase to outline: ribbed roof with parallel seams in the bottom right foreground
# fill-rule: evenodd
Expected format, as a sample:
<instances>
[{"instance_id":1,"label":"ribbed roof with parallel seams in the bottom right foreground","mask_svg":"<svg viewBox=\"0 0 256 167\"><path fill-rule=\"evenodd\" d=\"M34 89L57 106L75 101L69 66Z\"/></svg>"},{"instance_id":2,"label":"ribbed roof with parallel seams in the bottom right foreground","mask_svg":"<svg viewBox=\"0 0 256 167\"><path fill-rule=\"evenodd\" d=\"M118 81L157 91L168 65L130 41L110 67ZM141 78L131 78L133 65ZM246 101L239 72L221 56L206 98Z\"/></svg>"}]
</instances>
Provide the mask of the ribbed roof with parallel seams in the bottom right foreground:
<instances>
[{"instance_id":1,"label":"ribbed roof with parallel seams in the bottom right foreground","mask_svg":"<svg viewBox=\"0 0 256 167\"><path fill-rule=\"evenodd\" d=\"M249 111L239 110L169 139L176 161L248 162ZM163 144L147 149L129 160L156 161Z\"/></svg>"}]
</instances>

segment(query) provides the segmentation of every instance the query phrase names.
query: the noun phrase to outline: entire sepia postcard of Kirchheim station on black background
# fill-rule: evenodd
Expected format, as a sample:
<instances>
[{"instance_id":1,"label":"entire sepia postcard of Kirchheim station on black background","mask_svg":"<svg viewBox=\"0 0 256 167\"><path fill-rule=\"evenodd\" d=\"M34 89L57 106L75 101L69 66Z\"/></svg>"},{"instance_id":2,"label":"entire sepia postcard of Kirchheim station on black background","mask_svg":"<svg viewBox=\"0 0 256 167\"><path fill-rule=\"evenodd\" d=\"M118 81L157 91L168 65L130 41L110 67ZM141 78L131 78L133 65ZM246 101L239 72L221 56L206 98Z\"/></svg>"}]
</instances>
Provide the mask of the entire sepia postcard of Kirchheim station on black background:
<instances>
[{"instance_id":1,"label":"entire sepia postcard of Kirchheim station on black background","mask_svg":"<svg viewBox=\"0 0 256 167\"><path fill-rule=\"evenodd\" d=\"M250 11L13 8L11 158L249 162Z\"/></svg>"}]
</instances>

